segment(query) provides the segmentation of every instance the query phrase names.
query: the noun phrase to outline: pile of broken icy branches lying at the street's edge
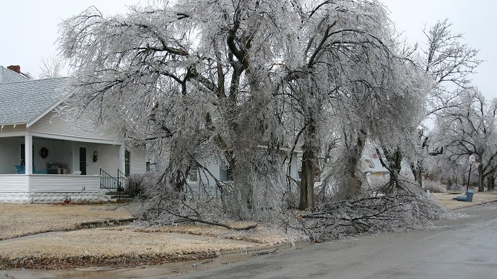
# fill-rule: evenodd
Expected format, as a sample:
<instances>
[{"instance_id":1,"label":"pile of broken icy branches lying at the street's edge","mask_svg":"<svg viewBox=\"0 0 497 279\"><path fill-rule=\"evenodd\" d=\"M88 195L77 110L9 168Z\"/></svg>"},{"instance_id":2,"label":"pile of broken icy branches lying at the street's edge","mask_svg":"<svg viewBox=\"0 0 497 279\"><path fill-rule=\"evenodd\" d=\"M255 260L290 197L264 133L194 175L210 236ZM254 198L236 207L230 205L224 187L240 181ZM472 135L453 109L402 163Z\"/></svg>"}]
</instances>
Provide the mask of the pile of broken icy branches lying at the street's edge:
<instances>
[{"instance_id":1,"label":"pile of broken icy branches lying at the street's edge","mask_svg":"<svg viewBox=\"0 0 497 279\"><path fill-rule=\"evenodd\" d=\"M322 204L298 216L311 240L336 239L378 231L420 229L430 220L455 214L436 200L409 194L371 196Z\"/></svg>"}]
</instances>

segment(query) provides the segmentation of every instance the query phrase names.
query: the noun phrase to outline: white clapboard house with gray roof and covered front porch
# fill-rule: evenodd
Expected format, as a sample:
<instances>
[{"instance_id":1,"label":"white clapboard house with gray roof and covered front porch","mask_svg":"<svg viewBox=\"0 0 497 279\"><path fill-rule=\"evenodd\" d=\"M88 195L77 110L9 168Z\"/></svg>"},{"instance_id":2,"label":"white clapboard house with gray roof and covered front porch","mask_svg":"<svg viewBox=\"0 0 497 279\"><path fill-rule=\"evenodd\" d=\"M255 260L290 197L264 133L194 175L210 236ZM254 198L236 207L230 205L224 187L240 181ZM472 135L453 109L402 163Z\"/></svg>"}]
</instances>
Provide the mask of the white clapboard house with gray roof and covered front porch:
<instances>
[{"instance_id":1,"label":"white clapboard house with gray roof and covered front porch","mask_svg":"<svg viewBox=\"0 0 497 279\"><path fill-rule=\"evenodd\" d=\"M89 121L75 127L57 116L67 81L0 66L0 203L96 201L101 187L146 172L145 149L126 150Z\"/></svg>"}]
</instances>

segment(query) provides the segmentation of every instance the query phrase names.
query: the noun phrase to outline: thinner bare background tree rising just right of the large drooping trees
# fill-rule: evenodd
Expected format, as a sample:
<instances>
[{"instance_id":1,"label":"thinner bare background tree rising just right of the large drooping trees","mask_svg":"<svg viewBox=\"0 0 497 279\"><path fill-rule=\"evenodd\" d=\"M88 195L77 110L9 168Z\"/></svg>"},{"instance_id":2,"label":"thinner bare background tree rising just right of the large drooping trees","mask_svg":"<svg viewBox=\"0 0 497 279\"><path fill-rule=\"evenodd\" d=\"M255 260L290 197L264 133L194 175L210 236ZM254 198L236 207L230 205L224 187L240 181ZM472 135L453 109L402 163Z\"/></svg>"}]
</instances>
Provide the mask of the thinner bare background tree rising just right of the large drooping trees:
<instances>
[{"instance_id":1,"label":"thinner bare background tree rising just right of the large drooping trees","mask_svg":"<svg viewBox=\"0 0 497 279\"><path fill-rule=\"evenodd\" d=\"M428 108L426 116L419 118L418 138L413 138L411 146L407 149L398 146L381 148L387 161L386 165L392 165L394 169L401 167L401 161L407 155L405 152L410 151L407 161L420 187L427 156L436 156L443 152L442 146L433 146L429 140L430 134L426 133L427 127L422 127L422 121L426 117L436 118L440 112L454 105L452 100L456 98L456 92L461 88L471 87L471 74L474 74L476 67L481 63L477 58L478 50L464 43L462 34L452 32L451 27L452 24L445 19L437 21L428 30L423 30L426 43L422 44L420 59L413 56L413 50L407 51L408 59L422 67L432 81L431 87L426 87Z\"/></svg>"}]
</instances>

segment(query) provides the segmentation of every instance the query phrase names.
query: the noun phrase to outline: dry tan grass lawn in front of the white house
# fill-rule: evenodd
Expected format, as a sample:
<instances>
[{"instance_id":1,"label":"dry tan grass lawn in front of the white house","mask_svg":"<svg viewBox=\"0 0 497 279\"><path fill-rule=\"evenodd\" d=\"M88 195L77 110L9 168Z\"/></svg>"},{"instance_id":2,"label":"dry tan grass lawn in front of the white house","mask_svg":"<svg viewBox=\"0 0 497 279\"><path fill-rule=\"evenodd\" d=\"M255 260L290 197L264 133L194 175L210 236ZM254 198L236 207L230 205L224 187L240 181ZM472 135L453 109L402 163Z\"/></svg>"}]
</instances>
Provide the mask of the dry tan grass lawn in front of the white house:
<instances>
[{"instance_id":1,"label":"dry tan grass lawn in front of the white house","mask_svg":"<svg viewBox=\"0 0 497 279\"><path fill-rule=\"evenodd\" d=\"M210 258L220 251L289 243L262 225L249 231L229 231L211 225L126 225L77 229L79 223L131 218L124 207L103 205L0 205L0 269L12 267L66 268L136 265ZM249 223L230 223L244 227ZM28 236L45 231L43 236Z\"/></svg>"}]
</instances>

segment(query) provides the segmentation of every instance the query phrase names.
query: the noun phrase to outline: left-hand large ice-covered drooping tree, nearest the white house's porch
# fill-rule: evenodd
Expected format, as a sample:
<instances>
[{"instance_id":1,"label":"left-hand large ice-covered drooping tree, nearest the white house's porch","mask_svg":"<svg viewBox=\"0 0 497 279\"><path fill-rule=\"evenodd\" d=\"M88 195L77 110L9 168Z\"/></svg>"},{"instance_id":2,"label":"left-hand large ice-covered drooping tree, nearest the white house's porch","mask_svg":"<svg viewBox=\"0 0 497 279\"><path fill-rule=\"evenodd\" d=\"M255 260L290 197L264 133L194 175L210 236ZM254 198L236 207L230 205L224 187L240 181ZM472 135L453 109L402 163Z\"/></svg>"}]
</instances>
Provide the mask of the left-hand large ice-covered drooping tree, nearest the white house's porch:
<instances>
[{"instance_id":1,"label":"left-hand large ice-covered drooping tree, nearest the white house's porch","mask_svg":"<svg viewBox=\"0 0 497 279\"><path fill-rule=\"evenodd\" d=\"M275 148L256 149L281 134L274 69L290 47L292 11L289 1L222 0L157 2L114 17L90 8L62 24L59 40L75 69L73 110L92 110L129 143L168 149L177 190L189 167L219 158L250 210L246 171L275 157Z\"/></svg>"}]
</instances>

